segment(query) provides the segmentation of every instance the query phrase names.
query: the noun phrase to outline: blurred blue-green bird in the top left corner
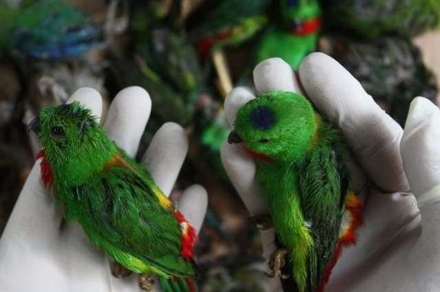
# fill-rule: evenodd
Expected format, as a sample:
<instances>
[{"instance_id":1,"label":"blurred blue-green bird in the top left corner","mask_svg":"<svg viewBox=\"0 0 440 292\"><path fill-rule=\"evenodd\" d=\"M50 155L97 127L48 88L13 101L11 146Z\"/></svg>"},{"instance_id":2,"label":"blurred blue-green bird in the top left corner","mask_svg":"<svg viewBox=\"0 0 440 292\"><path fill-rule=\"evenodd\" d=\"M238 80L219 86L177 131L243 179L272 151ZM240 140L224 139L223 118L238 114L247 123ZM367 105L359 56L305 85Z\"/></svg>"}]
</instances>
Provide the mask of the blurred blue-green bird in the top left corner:
<instances>
[{"instance_id":1,"label":"blurred blue-green bird in the top left corner","mask_svg":"<svg viewBox=\"0 0 440 292\"><path fill-rule=\"evenodd\" d=\"M0 48L33 59L69 59L104 45L103 28L65 1L0 5Z\"/></svg>"}]
</instances>

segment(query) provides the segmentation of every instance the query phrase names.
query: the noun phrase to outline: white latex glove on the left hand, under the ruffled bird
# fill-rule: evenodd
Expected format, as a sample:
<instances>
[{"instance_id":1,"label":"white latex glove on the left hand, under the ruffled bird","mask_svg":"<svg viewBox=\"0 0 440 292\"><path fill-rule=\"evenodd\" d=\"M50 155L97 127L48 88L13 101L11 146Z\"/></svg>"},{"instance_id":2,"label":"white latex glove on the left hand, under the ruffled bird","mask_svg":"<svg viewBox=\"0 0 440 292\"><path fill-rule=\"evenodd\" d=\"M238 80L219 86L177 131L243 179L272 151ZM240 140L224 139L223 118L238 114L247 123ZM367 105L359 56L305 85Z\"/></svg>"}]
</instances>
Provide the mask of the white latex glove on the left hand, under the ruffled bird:
<instances>
[{"instance_id":1,"label":"white latex glove on the left hand, under the ruffled bird","mask_svg":"<svg viewBox=\"0 0 440 292\"><path fill-rule=\"evenodd\" d=\"M101 96L83 87L67 103L78 101L101 116ZM140 87L127 87L109 107L104 127L116 144L134 156L151 111ZM165 123L154 136L142 163L167 195L187 154L184 129ZM178 202L180 211L199 231L207 209L203 187L189 187ZM114 278L109 260L96 249L78 224L62 227L62 213L52 191L41 184L36 162L0 239L0 291L140 291L137 275ZM158 242L160 244L160 242ZM158 291L157 284L154 285Z\"/></svg>"}]
</instances>

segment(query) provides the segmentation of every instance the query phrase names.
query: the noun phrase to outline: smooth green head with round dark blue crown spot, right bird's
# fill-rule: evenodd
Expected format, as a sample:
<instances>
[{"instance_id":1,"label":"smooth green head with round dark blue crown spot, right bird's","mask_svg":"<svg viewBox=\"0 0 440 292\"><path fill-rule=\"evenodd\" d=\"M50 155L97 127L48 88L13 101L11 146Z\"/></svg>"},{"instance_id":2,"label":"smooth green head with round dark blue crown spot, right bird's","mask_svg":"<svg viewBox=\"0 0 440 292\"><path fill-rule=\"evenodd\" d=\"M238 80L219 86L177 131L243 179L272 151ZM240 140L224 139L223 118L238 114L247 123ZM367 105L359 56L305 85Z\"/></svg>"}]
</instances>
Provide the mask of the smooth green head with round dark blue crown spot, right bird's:
<instances>
[{"instance_id":1,"label":"smooth green head with round dark blue crown spot, right bird's","mask_svg":"<svg viewBox=\"0 0 440 292\"><path fill-rule=\"evenodd\" d=\"M235 118L228 143L242 143L260 160L300 164L317 140L319 116L293 92L269 92L249 101Z\"/></svg>"}]
</instances>

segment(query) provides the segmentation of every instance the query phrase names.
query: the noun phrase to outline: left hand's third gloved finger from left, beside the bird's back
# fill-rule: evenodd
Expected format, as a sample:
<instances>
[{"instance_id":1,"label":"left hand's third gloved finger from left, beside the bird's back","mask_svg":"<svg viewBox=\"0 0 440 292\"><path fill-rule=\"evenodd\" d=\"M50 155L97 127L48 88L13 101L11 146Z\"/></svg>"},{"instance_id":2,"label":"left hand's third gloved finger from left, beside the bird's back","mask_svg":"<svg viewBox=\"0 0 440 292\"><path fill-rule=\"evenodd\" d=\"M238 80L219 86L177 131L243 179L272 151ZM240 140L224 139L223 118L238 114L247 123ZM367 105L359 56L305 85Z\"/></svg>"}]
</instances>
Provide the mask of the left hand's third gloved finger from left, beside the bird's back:
<instances>
[{"instance_id":1,"label":"left hand's third gloved finger from left, beside the bird's back","mask_svg":"<svg viewBox=\"0 0 440 292\"><path fill-rule=\"evenodd\" d=\"M188 152L185 129L176 123L165 123L154 134L142 163L147 166L156 185L169 196Z\"/></svg>"}]
</instances>

